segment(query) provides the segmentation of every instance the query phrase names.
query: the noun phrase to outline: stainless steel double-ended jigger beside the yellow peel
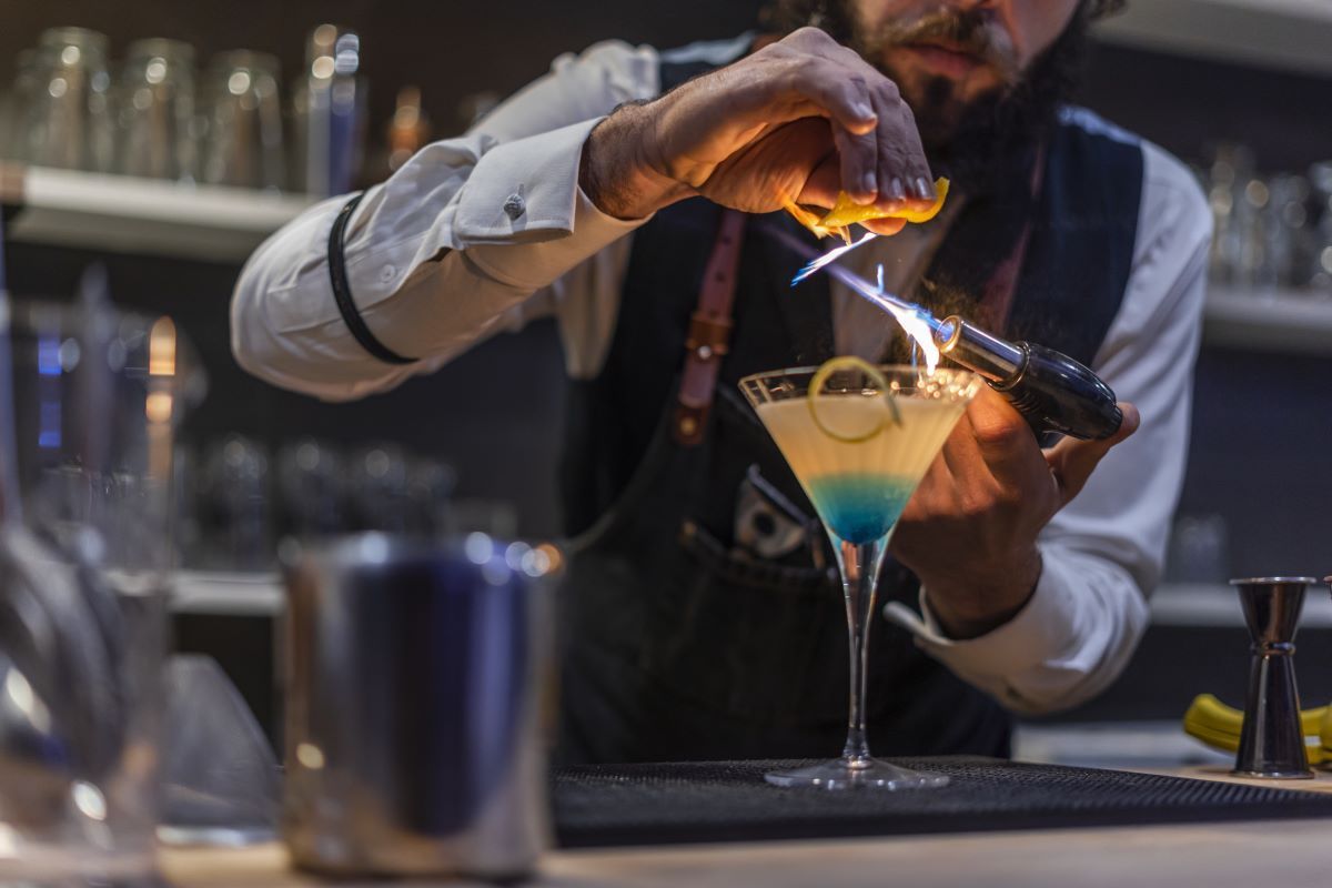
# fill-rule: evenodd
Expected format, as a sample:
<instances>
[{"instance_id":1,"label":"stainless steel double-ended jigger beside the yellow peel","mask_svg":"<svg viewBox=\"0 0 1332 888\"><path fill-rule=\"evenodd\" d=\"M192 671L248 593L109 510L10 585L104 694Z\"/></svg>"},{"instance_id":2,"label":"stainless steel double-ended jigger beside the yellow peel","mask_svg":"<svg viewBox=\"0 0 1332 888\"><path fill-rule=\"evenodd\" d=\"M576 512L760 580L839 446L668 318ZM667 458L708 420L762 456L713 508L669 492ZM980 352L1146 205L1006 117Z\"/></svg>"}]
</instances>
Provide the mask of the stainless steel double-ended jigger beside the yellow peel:
<instances>
[{"instance_id":1,"label":"stainless steel double-ended jigger beside the yellow peel","mask_svg":"<svg viewBox=\"0 0 1332 888\"><path fill-rule=\"evenodd\" d=\"M1248 700L1235 774L1253 777L1312 777L1295 688L1295 630L1312 576L1232 579L1244 606L1252 646Z\"/></svg>"}]
</instances>

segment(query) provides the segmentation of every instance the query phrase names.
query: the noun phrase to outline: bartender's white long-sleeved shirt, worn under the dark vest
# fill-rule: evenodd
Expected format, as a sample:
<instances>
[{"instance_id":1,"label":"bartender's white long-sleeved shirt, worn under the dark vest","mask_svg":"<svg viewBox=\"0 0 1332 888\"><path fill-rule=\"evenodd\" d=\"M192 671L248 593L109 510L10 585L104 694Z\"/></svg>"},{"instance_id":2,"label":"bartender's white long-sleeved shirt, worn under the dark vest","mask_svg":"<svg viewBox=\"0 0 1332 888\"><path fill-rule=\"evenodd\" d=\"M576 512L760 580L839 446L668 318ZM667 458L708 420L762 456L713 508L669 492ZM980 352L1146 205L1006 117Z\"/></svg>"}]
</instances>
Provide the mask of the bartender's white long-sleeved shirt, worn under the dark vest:
<instances>
[{"instance_id":1,"label":"bartender's white long-sleeved shirt, worn under the dark vest","mask_svg":"<svg viewBox=\"0 0 1332 888\"><path fill-rule=\"evenodd\" d=\"M741 45L707 51L725 60ZM579 190L582 145L617 105L654 97L657 71L649 47L602 43L562 56L469 133L426 146L366 192L348 232L352 293L374 334L417 362L380 363L338 317L325 265L344 202L334 198L273 234L246 262L232 302L240 363L278 386L358 398L430 373L496 332L554 314L569 373L594 375L642 220L607 217ZM1131 138L1087 112L1066 118ZM1146 596L1159 579L1179 497L1211 214L1179 161L1151 144L1143 152L1134 268L1092 363L1122 399L1138 405L1142 429L1040 534L1044 570L1012 620L952 640L923 602L923 616L888 612L958 675L1022 712L1086 700L1120 672L1146 628ZM503 209L513 196L525 205L515 220ZM890 286L900 285L919 268L920 252L932 249L923 240L880 238L851 258L862 270L884 262ZM839 349L872 353L891 334L886 318L866 314L835 282L832 296ZM882 332L866 335L867 325Z\"/></svg>"}]
</instances>

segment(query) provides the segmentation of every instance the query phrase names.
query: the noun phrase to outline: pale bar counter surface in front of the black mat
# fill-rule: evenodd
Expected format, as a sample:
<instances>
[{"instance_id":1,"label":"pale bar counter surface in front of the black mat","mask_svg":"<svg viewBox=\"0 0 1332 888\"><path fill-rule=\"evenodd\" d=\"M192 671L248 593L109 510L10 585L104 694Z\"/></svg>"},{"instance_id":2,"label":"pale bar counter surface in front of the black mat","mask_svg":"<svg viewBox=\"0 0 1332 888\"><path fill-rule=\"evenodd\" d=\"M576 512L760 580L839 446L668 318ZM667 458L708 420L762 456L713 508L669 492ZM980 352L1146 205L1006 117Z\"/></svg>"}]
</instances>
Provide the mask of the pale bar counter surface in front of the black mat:
<instances>
[{"instance_id":1,"label":"pale bar counter surface in front of the black mat","mask_svg":"<svg viewBox=\"0 0 1332 888\"><path fill-rule=\"evenodd\" d=\"M1166 774L1166 772L1160 772ZM1235 780L1219 768L1168 772ZM1251 781L1332 792L1332 774ZM277 844L245 849L168 848L180 888L296 888L329 884L292 872ZM349 883L341 883L349 884ZM357 885L402 884L360 881ZM452 881L454 885L484 883ZM983 884L986 888L1249 888L1332 884L1332 819L996 831L832 841L770 841L551 851L534 888L807 888Z\"/></svg>"}]
</instances>

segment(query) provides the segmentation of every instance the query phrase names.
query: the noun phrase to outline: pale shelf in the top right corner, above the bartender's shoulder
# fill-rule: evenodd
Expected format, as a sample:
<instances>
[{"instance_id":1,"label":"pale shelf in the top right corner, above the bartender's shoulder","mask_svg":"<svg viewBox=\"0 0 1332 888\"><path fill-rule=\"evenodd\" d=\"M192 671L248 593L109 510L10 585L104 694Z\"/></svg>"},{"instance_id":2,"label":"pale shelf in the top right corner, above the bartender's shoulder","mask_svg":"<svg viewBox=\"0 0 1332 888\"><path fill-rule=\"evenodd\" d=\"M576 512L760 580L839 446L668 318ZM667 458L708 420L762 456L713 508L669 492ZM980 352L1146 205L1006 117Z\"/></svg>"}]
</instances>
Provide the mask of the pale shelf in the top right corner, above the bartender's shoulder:
<instances>
[{"instance_id":1,"label":"pale shelf in the top right corner, above the bartender's shoulder","mask_svg":"<svg viewBox=\"0 0 1332 888\"><path fill-rule=\"evenodd\" d=\"M1094 33L1136 49L1332 76L1329 0L1140 0Z\"/></svg>"}]
</instances>

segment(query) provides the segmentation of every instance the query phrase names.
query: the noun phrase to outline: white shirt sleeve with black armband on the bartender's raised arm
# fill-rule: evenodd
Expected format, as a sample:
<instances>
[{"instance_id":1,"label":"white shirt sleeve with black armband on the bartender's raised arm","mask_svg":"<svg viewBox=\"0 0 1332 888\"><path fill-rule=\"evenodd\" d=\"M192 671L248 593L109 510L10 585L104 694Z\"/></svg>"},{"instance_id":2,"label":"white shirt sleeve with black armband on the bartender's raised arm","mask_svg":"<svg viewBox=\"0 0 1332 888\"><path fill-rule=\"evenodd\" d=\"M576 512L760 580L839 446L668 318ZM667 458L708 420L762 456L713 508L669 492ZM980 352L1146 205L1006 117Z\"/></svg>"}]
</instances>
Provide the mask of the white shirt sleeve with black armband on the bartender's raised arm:
<instances>
[{"instance_id":1,"label":"white shirt sleeve with black armband on the bartender's raised arm","mask_svg":"<svg viewBox=\"0 0 1332 888\"><path fill-rule=\"evenodd\" d=\"M349 399L549 313L557 281L642 224L602 213L578 170L601 116L655 91L651 57L618 43L562 57L474 130L425 146L366 190L345 234L348 282L374 337L412 363L368 354L333 300L328 240L345 196L245 264L232 298L237 361L274 385Z\"/></svg>"}]
</instances>

